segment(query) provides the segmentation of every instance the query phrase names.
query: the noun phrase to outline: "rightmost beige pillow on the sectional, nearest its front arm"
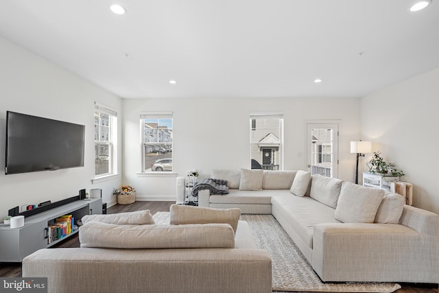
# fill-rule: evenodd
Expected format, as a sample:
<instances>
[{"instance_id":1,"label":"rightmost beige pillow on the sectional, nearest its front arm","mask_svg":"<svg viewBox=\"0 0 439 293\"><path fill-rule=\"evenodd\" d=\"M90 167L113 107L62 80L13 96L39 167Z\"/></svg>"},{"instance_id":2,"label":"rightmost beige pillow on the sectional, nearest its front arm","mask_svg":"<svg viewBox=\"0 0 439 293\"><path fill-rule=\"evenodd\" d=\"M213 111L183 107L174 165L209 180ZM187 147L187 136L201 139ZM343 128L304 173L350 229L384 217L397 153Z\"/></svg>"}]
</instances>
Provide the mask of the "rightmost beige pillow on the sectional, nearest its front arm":
<instances>
[{"instance_id":1,"label":"rightmost beige pillow on the sectional, nearest its front arm","mask_svg":"<svg viewBox=\"0 0 439 293\"><path fill-rule=\"evenodd\" d=\"M400 194L386 192L383 201L375 215L375 223L399 224L399 218L403 214L405 198Z\"/></svg>"}]
</instances>

